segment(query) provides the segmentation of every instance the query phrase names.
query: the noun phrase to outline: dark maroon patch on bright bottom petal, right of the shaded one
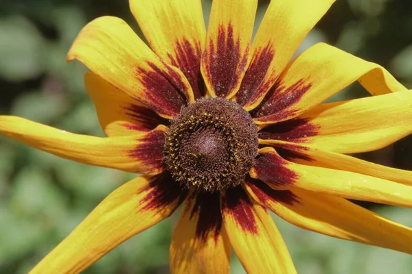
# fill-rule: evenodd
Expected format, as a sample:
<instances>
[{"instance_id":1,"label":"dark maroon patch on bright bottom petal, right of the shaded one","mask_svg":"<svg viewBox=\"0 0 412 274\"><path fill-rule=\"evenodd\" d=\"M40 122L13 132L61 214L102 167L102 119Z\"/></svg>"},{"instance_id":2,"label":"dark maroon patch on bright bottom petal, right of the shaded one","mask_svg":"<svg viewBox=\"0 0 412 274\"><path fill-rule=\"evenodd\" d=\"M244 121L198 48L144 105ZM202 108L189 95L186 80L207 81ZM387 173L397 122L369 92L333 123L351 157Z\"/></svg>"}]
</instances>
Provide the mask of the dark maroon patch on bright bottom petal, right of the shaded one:
<instances>
[{"instance_id":1,"label":"dark maroon patch on bright bottom petal, right of the shaded one","mask_svg":"<svg viewBox=\"0 0 412 274\"><path fill-rule=\"evenodd\" d=\"M225 214L231 214L243 231L258 234L253 204L242 186L228 188L222 199L222 210ZM230 232L228 232L230 233Z\"/></svg>"}]
</instances>

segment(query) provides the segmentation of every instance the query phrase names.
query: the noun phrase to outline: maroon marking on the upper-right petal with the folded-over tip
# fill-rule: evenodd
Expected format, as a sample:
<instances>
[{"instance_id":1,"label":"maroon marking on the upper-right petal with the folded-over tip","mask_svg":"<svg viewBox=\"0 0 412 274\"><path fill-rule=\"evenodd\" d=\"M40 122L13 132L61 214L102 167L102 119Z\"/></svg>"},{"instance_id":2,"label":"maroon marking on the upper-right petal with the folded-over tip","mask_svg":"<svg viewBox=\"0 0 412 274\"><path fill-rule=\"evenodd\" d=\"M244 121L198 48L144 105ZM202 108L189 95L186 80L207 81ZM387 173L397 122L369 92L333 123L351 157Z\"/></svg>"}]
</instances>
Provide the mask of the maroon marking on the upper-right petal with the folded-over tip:
<instances>
[{"instance_id":1,"label":"maroon marking on the upper-right petal with the folded-over tip","mask_svg":"<svg viewBox=\"0 0 412 274\"><path fill-rule=\"evenodd\" d=\"M304 79L300 79L286 87L282 79L278 79L258 108L251 112L251 116L259 121L277 121L294 115L297 110L290 107L298 103L311 86L312 83L306 84Z\"/></svg>"}]
</instances>

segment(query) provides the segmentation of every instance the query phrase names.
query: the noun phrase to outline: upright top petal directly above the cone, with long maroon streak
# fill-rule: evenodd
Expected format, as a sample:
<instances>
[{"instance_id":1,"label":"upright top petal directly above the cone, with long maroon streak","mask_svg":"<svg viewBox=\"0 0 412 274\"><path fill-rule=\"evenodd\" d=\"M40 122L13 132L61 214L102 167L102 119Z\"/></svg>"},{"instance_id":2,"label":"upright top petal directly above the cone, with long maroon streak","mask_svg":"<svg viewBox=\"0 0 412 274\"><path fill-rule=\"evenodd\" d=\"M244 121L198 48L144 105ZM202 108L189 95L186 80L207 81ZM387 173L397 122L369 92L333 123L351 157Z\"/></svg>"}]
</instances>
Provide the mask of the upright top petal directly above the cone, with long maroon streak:
<instances>
[{"instance_id":1,"label":"upright top petal directly above the cone, with long maroon streak","mask_svg":"<svg viewBox=\"0 0 412 274\"><path fill-rule=\"evenodd\" d=\"M257 0L214 0L201 72L213 97L232 97L249 62Z\"/></svg>"}]
</instances>

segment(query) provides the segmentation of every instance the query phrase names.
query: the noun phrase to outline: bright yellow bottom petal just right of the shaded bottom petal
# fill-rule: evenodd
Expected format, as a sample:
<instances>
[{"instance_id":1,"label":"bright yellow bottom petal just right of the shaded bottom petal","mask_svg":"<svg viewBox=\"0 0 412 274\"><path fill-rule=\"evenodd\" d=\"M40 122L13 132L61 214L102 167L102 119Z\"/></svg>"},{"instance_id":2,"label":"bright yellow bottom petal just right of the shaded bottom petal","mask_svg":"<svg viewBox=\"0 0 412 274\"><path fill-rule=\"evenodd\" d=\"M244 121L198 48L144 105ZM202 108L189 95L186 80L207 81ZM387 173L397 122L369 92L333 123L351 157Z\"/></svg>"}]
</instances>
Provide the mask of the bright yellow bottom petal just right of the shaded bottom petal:
<instances>
[{"instance_id":1,"label":"bright yellow bottom petal just right of the shaded bottom petal","mask_svg":"<svg viewBox=\"0 0 412 274\"><path fill-rule=\"evenodd\" d=\"M222 214L233 250L247 273L296 273L271 216L241 186L225 192Z\"/></svg>"}]
</instances>

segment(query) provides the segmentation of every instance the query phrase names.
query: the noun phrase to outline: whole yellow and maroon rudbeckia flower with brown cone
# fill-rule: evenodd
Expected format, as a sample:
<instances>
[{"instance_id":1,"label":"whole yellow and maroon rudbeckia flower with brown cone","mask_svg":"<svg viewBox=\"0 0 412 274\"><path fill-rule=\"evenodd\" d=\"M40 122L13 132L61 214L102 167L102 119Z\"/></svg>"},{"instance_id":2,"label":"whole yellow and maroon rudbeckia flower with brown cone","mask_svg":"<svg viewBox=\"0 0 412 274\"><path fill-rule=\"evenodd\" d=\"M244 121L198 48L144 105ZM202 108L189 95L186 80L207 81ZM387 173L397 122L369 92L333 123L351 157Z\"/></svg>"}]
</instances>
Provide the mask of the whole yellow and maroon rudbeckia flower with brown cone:
<instances>
[{"instance_id":1,"label":"whole yellow and maroon rudbeckia flower with brown cone","mask_svg":"<svg viewBox=\"0 0 412 274\"><path fill-rule=\"evenodd\" d=\"M412 132L412 92L378 64L323 43L293 58L333 0L130 0L89 23L67 59L106 138L0 116L0 132L60 157L142 174L109 194L32 273L78 273L183 204L172 273L295 273L268 210L299 227L412 253L412 229L352 201L412 206L412 173L347 153ZM292 59L293 58L293 59ZM292 59L292 60L290 60ZM360 82L373 97L323 103ZM81 121L80 121L81 123Z\"/></svg>"}]
</instances>

